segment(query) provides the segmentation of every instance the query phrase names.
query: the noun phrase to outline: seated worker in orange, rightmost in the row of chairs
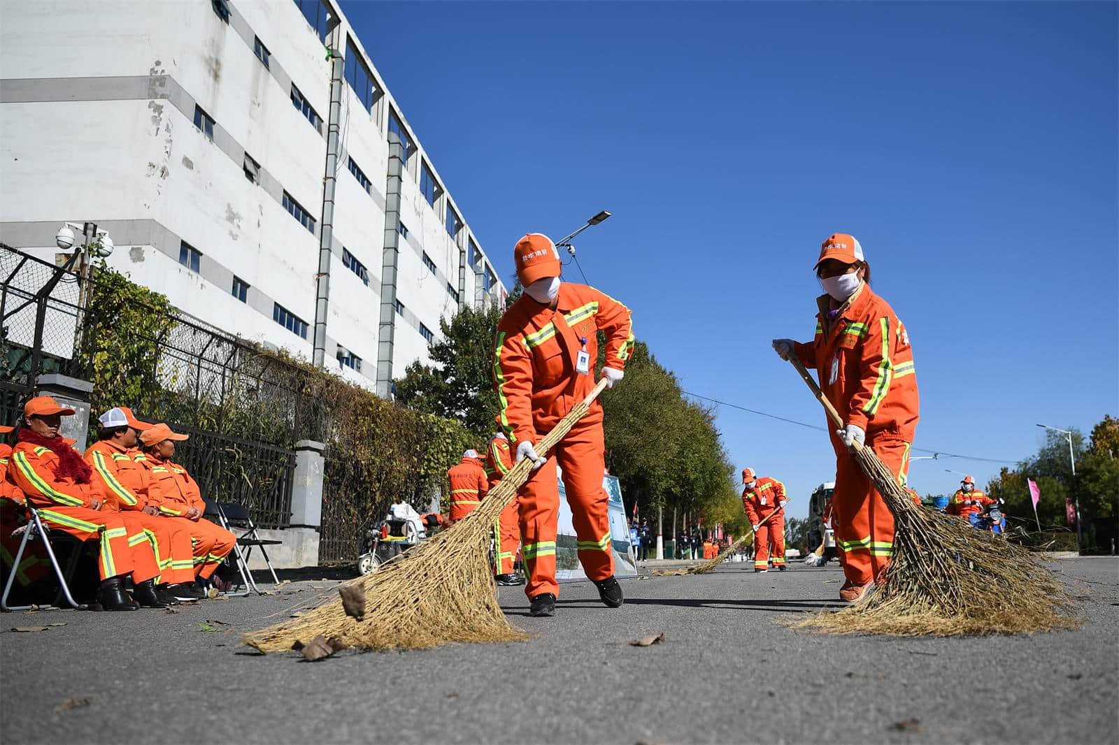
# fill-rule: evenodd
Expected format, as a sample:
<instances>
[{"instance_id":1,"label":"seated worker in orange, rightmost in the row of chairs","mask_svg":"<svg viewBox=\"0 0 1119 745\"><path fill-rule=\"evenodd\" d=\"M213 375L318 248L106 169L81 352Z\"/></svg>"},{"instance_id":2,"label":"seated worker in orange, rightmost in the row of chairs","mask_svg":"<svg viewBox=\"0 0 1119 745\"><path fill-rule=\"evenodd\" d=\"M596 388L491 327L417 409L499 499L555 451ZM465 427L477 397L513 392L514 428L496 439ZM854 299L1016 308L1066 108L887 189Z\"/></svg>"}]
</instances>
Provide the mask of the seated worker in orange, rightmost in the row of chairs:
<instances>
[{"instance_id":1,"label":"seated worker in orange, rightmost in the row of chairs","mask_svg":"<svg viewBox=\"0 0 1119 745\"><path fill-rule=\"evenodd\" d=\"M144 458L140 459L140 464L158 489L162 519L181 527L190 536L194 548L191 577L198 578L198 586L192 591L205 596L206 584L233 550L237 537L222 526L201 519L206 512L206 502L203 501L198 482L190 478L185 468L171 461L175 458L175 443L188 437L189 435L172 432L171 427L162 423L143 430L140 442L143 444Z\"/></svg>"}]
</instances>

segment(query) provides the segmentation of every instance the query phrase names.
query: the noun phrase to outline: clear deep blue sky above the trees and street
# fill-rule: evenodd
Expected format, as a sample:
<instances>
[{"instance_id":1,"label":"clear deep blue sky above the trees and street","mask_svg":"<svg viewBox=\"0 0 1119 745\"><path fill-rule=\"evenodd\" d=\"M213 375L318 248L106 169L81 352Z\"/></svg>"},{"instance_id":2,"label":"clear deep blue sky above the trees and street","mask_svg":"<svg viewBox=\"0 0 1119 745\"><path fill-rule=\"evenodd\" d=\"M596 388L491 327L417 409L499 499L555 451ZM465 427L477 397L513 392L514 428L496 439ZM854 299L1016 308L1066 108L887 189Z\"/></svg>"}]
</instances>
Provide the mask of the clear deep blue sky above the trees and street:
<instances>
[{"instance_id":1,"label":"clear deep blue sky above the trees and street","mask_svg":"<svg viewBox=\"0 0 1119 745\"><path fill-rule=\"evenodd\" d=\"M1115 3L342 9L507 282L524 233L614 214L580 262L687 390L822 424L770 340L811 336L811 265L848 232L910 331L915 447L1016 461L1036 422L1119 412ZM802 515L826 435L717 416Z\"/></svg>"}]
</instances>

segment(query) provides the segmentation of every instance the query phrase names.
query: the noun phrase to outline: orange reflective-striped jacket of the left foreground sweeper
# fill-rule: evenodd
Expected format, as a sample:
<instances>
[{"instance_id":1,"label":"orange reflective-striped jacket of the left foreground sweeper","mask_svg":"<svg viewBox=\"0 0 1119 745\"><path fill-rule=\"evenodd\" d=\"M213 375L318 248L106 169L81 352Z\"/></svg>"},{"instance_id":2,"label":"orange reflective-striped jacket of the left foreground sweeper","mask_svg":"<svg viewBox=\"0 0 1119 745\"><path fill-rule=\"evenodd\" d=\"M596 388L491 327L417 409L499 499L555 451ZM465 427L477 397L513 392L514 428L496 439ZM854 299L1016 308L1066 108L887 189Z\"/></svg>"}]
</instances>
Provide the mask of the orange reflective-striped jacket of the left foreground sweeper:
<instances>
[{"instance_id":1,"label":"orange reflective-striped jacket of the left foreground sweeper","mask_svg":"<svg viewBox=\"0 0 1119 745\"><path fill-rule=\"evenodd\" d=\"M555 310L526 294L505 312L493 345L493 388L497 423L510 443L536 443L537 434L551 431L591 393L598 331L606 334L605 366L626 369L633 349L630 310L594 287L564 282ZM575 371L584 339L587 375ZM583 422L601 421L602 406L594 402Z\"/></svg>"}]
</instances>

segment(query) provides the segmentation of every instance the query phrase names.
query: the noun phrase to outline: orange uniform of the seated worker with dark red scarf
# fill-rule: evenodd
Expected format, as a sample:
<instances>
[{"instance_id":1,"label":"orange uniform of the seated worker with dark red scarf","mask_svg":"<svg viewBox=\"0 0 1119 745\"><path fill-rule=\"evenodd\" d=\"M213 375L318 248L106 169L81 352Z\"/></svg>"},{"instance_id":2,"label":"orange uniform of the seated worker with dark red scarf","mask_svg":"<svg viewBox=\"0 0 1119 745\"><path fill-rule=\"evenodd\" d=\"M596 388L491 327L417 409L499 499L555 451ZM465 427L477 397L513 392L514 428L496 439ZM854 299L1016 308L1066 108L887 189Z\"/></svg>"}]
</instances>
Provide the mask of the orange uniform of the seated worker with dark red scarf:
<instances>
[{"instance_id":1,"label":"orange uniform of the seated worker with dark red scarf","mask_svg":"<svg viewBox=\"0 0 1119 745\"><path fill-rule=\"evenodd\" d=\"M97 572L102 579L131 573L133 582L141 583L159 576L153 541L143 527L115 510L92 509L92 499L104 499L100 485L56 475L58 466L59 458L49 447L20 442L12 450L8 473L50 528L101 543Z\"/></svg>"}]
</instances>

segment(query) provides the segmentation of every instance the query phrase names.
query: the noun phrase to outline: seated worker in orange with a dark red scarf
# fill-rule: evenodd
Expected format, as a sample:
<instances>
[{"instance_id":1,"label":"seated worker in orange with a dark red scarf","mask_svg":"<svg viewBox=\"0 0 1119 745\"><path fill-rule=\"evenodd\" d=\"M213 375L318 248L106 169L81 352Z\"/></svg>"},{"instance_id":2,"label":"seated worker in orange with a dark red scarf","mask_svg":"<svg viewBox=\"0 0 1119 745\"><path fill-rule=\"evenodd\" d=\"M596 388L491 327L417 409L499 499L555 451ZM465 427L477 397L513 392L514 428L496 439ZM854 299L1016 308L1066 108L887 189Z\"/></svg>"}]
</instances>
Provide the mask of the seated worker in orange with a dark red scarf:
<instances>
[{"instance_id":1,"label":"seated worker in orange with a dark red scarf","mask_svg":"<svg viewBox=\"0 0 1119 745\"><path fill-rule=\"evenodd\" d=\"M62 417L73 414L73 408L59 406L50 396L37 396L27 402L8 478L35 504L49 528L68 532L78 540L96 538L100 541L101 586L95 607L137 610L139 605L121 582L129 574L137 595L145 605L166 606L152 586L160 569L143 527L129 520L126 515L102 509L104 496L100 485L93 483L93 469L58 434Z\"/></svg>"}]
</instances>

